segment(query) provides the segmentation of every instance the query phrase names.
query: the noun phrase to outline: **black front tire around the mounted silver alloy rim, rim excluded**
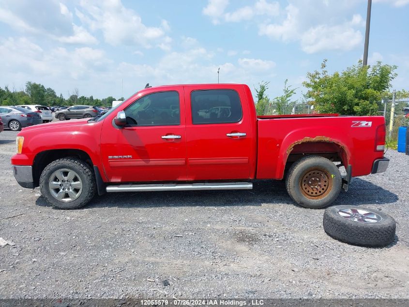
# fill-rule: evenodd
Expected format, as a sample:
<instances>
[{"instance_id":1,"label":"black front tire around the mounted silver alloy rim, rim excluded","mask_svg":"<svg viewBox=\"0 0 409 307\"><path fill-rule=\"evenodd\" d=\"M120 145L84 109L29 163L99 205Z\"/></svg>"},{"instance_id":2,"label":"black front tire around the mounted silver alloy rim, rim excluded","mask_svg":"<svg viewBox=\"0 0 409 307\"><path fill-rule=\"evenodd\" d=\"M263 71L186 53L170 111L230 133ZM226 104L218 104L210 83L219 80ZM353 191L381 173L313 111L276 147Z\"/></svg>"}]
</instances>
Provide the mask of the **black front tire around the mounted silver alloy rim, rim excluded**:
<instances>
[{"instance_id":1,"label":"black front tire around the mounted silver alloy rim, rim excluded","mask_svg":"<svg viewBox=\"0 0 409 307\"><path fill-rule=\"evenodd\" d=\"M48 188L50 176L59 169L70 169L75 171L82 181L82 192L75 200L71 202L62 202L53 195ZM45 201L58 209L78 209L87 205L96 192L95 176L90 166L75 158L62 158L55 160L45 166L40 176L40 191Z\"/></svg>"}]
</instances>

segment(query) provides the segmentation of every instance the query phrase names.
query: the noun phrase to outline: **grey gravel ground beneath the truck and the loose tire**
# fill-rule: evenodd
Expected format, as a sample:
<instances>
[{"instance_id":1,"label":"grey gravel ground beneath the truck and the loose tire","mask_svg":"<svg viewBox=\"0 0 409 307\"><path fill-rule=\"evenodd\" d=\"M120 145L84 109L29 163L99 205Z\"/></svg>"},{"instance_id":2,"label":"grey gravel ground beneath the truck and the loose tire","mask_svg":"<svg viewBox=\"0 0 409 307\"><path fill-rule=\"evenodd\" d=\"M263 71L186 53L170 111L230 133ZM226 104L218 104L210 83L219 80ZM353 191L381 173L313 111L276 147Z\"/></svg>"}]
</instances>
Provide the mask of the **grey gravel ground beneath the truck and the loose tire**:
<instances>
[{"instance_id":1,"label":"grey gravel ground beneath the truck and the loose tire","mask_svg":"<svg viewBox=\"0 0 409 307\"><path fill-rule=\"evenodd\" d=\"M15 132L0 133L3 298L409 298L409 156L354 178L334 205L382 210L395 241L364 248L328 237L324 210L294 205L284 182L250 191L106 194L55 210L15 182ZM164 281L167 280L167 286ZM166 282L165 282L166 284Z\"/></svg>"}]
</instances>

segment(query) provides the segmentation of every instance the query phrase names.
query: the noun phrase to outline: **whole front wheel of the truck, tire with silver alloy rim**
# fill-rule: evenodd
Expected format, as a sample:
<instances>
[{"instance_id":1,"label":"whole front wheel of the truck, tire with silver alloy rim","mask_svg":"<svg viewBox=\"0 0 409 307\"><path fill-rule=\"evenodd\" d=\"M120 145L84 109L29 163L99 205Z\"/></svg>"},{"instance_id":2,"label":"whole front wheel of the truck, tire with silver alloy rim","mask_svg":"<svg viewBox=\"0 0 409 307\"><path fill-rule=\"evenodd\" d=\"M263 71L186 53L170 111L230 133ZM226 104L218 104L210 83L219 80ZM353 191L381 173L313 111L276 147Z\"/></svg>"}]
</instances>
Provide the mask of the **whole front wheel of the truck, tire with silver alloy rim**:
<instances>
[{"instance_id":1,"label":"whole front wheel of the truck, tire with silver alloy rim","mask_svg":"<svg viewBox=\"0 0 409 307\"><path fill-rule=\"evenodd\" d=\"M62 158L48 164L41 173L40 191L53 207L77 209L88 204L94 196L95 178L87 163Z\"/></svg>"}]
</instances>

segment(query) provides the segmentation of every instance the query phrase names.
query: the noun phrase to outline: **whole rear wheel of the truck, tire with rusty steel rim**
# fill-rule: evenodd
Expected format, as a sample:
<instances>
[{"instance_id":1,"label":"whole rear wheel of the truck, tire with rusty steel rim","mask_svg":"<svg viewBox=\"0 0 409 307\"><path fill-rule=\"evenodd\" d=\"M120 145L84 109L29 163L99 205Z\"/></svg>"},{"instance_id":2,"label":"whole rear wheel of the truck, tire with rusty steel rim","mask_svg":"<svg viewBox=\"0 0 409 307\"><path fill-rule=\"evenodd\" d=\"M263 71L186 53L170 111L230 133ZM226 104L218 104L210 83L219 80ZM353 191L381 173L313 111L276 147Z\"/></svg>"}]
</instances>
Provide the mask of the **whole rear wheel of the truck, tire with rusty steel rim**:
<instances>
[{"instance_id":1,"label":"whole rear wheel of the truck, tire with rusty steel rim","mask_svg":"<svg viewBox=\"0 0 409 307\"><path fill-rule=\"evenodd\" d=\"M307 156L295 162L286 178L287 192L299 205L319 209L330 205L341 191L342 177L328 159Z\"/></svg>"}]
</instances>

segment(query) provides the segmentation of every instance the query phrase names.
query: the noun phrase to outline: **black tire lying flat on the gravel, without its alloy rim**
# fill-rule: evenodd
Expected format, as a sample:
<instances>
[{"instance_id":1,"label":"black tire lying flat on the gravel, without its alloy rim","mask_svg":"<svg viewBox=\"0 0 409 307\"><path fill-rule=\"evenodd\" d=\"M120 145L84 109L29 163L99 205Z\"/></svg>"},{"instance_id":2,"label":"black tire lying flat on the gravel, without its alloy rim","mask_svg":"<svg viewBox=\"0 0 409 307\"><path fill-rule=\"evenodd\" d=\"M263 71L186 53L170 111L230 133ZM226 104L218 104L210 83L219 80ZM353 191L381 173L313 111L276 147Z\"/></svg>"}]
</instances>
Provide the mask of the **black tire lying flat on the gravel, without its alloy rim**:
<instances>
[{"instance_id":1,"label":"black tire lying flat on the gravel, without its alloy rim","mask_svg":"<svg viewBox=\"0 0 409 307\"><path fill-rule=\"evenodd\" d=\"M343 218L338 214L341 209L364 209L382 217L380 222L362 223ZM386 246L394 241L395 220L382 211L357 206L333 206L324 211L322 221L324 231L334 239L353 245L368 247Z\"/></svg>"}]
</instances>

